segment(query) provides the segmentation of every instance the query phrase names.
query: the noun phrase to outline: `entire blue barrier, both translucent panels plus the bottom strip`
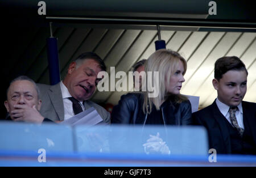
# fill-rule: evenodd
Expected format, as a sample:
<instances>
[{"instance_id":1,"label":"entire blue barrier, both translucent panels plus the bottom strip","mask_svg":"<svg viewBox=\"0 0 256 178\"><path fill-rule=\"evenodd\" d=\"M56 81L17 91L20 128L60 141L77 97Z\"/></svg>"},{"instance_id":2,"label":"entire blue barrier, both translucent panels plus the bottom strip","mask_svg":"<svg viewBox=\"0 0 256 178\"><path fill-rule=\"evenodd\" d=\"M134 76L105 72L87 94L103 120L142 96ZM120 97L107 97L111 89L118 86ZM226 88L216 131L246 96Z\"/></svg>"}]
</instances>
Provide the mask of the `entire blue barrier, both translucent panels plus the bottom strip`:
<instances>
[{"instance_id":1,"label":"entire blue barrier, both translucent panels plus the bottom strip","mask_svg":"<svg viewBox=\"0 0 256 178\"><path fill-rule=\"evenodd\" d=\"M0 166L256 166L252 155L210 158L207 132L198 126L0 122Z\"/></svg>"}]
</instances>

